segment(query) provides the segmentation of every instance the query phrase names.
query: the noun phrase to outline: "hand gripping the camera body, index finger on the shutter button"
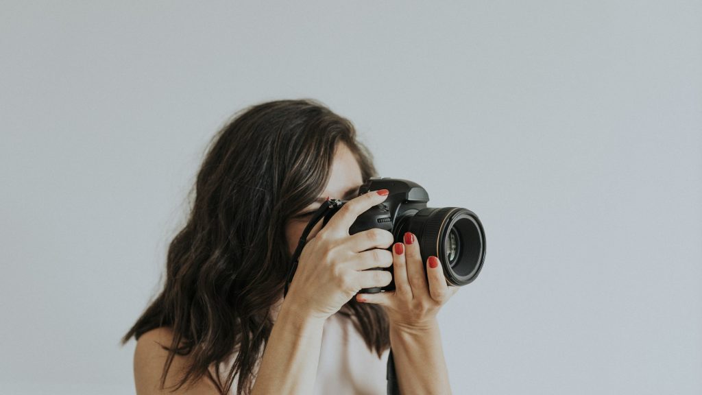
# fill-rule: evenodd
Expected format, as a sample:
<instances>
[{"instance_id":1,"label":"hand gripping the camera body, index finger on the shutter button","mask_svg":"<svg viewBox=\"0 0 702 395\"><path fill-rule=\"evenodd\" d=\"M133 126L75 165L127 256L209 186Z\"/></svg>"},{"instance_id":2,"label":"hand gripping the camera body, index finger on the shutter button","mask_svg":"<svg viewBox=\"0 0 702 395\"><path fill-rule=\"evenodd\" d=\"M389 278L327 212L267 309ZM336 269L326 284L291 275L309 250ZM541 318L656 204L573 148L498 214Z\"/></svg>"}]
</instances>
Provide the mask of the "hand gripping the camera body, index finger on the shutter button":
<instances>
[{"instance_id":1,"label":"hand gripping the camera body, index finger on the shutter button","mask_svg":"<svg viewBox=\"0 0 702 395\"><path fill-rule=\"evenodd\" d=\"M382 203L387 195L388 190L383 189L349 200L307 241L285 297L296 311L324 320L363 288L390 284L389 271L366 269L392 265L392 252L385 250L395 242L392 233L379 228L348 233L360 214Z\"/></svg>"}]
</instances>

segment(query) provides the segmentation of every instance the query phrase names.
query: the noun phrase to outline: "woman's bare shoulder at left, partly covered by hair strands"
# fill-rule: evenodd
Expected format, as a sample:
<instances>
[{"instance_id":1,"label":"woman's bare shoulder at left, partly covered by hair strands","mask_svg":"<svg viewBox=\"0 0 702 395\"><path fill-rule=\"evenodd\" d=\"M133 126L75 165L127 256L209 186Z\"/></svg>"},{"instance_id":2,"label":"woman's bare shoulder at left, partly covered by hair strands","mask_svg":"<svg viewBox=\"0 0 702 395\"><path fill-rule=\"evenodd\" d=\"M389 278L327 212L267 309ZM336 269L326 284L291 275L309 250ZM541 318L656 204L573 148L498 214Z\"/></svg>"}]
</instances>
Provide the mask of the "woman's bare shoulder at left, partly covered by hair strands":
<instances>
[{"instance_id":1,"label":"woman's bare shoulder at left, partly covered by hair strands","mask_svg":"<svg viewBox=\"0 0 702 395\"><path fill-rule=\"evenodd\" d=\"M175 386L182 380L183 377L177 373L183 373L191 362L189 356L178 354L173 357L168 369L164 386L166 389L160 389L161 375L168 358L168 350L164 347L171 347L171 342L173 331L167 327L144 332L137 340L134 350L134 382L137 394L211 394L213 389L216 390L214 383L203 377L190 387L183 386L178 391L168 391L168 387Z\"/></svg>"}]
</instances>

